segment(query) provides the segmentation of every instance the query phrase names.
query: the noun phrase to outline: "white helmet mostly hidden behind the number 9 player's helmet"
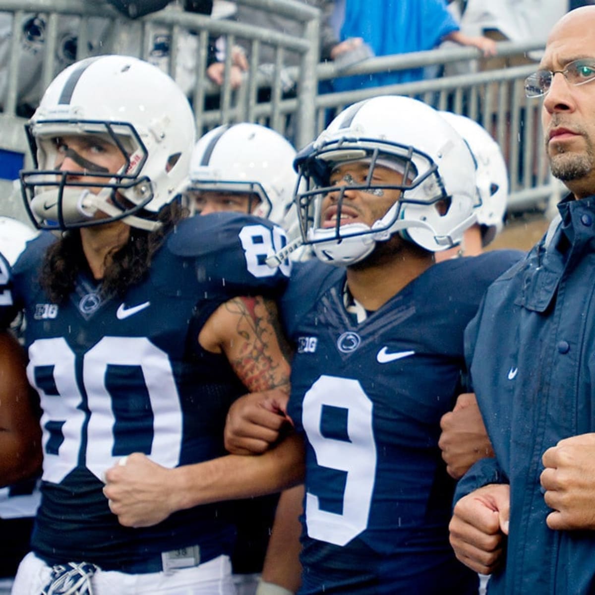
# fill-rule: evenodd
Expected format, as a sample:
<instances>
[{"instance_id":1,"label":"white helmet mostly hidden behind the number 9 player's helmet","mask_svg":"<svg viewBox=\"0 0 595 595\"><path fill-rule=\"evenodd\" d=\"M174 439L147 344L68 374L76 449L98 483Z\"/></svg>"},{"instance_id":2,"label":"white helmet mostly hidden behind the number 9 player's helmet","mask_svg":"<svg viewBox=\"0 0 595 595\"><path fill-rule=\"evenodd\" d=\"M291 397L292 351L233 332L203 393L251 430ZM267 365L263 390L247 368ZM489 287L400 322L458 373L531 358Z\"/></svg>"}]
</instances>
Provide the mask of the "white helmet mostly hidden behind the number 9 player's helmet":
<instances>
[{"instance_id":1,"label":"white helmet mostly hidden behind the number 9 player's helmet","mask_svg":"<svg viewBox=\"0 0 595 595\"><path fill-rule=\"evenodd\" d=\"M476 184L481 205L477 223L481 243L487 246L502 231L508 199L508 170L498 143L490 133L471 118L452 112L440 112L465 139L477 162Z\"/></svg>"}]
</instances>

